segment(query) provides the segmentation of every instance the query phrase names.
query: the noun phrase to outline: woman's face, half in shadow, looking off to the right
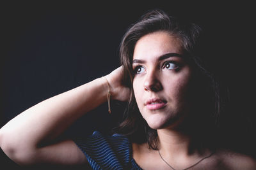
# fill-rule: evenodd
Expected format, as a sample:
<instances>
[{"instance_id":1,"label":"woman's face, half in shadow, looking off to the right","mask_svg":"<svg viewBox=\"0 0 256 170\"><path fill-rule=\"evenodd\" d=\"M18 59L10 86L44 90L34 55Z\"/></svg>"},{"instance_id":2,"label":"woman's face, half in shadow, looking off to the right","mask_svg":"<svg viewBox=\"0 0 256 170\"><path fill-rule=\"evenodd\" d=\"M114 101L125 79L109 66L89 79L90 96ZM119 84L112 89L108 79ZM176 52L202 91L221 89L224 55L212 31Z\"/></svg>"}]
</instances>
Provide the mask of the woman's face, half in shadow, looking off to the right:
<instances>
[{"instance_id":1,"label":"woman's face, half in shadow, looking off to the right","mask_svg":"<svg viewBox=\"0 0 256 170\"><path fill-rule=\"evenodd\" d=\"M140 38L132 60L133 89L141 115L152 129L172 128L189 111L192 68L177 38L158 31Z\"/></svg>"}]
</instances>

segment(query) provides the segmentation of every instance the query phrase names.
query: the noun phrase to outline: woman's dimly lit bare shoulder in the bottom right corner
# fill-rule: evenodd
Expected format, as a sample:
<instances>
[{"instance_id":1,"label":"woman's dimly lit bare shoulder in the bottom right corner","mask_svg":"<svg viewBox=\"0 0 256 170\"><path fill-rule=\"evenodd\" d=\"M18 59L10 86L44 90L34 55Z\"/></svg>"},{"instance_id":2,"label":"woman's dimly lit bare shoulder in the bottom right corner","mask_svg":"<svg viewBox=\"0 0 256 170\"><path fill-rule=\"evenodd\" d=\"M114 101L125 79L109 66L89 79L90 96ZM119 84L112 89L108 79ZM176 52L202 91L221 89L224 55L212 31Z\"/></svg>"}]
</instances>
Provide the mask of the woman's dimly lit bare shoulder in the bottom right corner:
<instances>
[{"instance_id":1,"label":"woman's dimly lit bare shoulder in the bottom right corner","mask_svg":"<svg viewBox=\"0 0 256 170\"><path fill-rule=\"evenodd\" d=\"M243 153L220 149L216 151L216 157L220 160L220 164L227 169L256 170L256 159Z\"/></svg>"}]
</instances>

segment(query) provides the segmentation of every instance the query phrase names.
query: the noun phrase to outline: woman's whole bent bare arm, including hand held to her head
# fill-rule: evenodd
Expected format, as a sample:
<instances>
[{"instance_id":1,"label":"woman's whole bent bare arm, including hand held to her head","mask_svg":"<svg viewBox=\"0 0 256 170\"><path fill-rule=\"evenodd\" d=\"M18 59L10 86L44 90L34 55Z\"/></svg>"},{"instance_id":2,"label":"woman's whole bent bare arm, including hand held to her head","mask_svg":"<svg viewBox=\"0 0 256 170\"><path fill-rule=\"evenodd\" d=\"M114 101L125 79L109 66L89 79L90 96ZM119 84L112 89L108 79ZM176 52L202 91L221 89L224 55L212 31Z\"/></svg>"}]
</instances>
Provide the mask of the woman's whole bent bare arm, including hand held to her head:
<instances>
[{"instance_id":1,"label":"woman's whole bent bare arm, including hand held to her head","mask_svg":"<svg viewBox=\"0 0 256 170\"><path fill-rule=\"evenodd\" d=\"M2 150L18 164L83 164L83 153L71 141L58 137L77 118L111 98L127 100L129 89L122 86L122 67L20 113L0 129ZM108 81L107 81L108 80Z\"/></svg>"}]
</instances>

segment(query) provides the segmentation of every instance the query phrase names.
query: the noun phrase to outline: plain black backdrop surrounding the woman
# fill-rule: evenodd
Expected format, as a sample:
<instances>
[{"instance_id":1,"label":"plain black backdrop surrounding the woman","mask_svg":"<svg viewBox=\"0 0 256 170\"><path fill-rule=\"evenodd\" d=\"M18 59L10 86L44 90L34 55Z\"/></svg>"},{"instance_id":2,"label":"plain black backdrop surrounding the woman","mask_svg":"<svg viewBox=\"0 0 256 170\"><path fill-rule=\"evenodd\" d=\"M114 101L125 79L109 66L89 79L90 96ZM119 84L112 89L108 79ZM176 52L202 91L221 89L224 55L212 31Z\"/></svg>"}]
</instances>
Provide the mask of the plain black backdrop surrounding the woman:
<instances>
[{"instance_id":1,"label":"plain black backdrop surrounding the woman","mask_svg":"<svg viewBox=\"0 0 256 170\"><path fill-rule=\"evenodd\" d=\"M240 114L250 125L249 135L237 136L237 141L243 145L242 149L255 155L252 4L246 1L52 2L1 4L1 126L34 104L118 67L118 46L129 25L147 10L161 8L211 32L209 53L216 53L212 65L229 86L229 105L234 115ZM77 120L66 135L84 136L95 129L108 131L115 126L122 109L122 104L114 103L113 114L109 115L107 104L102 104L92 114ZM232 115L230 112L230 120L234 119ZM244 129L244 122L236 124L237 129ZM10 161L6 157L3 160Z\"/></svg>"}]
</instances>

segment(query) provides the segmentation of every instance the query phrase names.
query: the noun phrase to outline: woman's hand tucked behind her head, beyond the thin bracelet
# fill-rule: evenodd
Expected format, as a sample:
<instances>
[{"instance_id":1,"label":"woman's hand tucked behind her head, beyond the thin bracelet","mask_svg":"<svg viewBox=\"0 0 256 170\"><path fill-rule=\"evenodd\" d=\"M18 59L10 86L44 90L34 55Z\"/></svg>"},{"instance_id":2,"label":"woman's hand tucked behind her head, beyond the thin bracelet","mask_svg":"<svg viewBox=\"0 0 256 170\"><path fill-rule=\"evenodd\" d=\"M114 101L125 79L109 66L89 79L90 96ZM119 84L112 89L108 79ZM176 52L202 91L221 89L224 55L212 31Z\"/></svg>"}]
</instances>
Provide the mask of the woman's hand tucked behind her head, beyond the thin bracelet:
<instances>
[{"instance_id":1,"label":"woman's hand tucked behind her head, beyond the thin bracelet","mask_svg":"<svg viewBox=\"0 0 256 170\"><path fill-rule=\"evenodd\" d=\"M118 67L105 76L109 82L111 99L118 101L127 101L129 99L131 89L123 85L123 76L124 66Z\"/></svg>"}]
</instances>

